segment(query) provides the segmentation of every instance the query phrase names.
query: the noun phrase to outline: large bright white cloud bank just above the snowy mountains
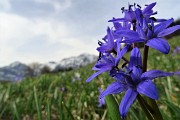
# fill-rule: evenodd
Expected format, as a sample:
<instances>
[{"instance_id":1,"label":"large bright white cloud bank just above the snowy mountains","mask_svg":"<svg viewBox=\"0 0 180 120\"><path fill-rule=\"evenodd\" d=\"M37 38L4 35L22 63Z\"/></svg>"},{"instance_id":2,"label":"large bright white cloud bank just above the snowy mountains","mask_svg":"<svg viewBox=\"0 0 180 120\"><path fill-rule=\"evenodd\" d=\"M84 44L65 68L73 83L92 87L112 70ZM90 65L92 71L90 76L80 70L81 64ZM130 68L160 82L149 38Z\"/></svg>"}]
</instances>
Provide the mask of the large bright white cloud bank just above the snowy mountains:
<instances>
[{"instance_id":1,"label":"large bright white cloud bank just above the snowy mountains","mask_svg":"<svg viewBox=\"0 0 180 120\"><path fill-rule=\"evenodd\" d=\"M67 28L56 20L27 19L0 12L0 66L13 61L48 62L87 51L95 53L93 44L81 42L92 38L71 37L71 30Z\"/></svg>"}]
</instances>

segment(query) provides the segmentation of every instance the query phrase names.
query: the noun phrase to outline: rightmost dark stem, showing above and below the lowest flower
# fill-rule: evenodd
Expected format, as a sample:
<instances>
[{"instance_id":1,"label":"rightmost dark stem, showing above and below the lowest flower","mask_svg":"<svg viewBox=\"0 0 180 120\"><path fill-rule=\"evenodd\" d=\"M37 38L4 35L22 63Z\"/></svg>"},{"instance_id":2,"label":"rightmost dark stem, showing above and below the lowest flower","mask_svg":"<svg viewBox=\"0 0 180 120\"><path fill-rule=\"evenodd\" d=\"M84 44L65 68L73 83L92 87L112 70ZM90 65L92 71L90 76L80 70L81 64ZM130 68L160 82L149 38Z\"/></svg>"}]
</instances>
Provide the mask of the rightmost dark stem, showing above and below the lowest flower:
<instances>
[{"instance_id":1,"label":"rightmost dark stem, showing above and below the lowest flower","mask_svg":"<svg viewBox=\"0 0 180 120\"><path fill-rule=\"evenodd\" d=\"M149 51L149 46L144 45L143 72L147 71L148 51ZM153 115L154 119L155 120L163 120L161 112L159 111L156 101L151 98L147 98L147 101L148 101L149 107L151 109L150 112Z\"/></svg>"}]
</instances>

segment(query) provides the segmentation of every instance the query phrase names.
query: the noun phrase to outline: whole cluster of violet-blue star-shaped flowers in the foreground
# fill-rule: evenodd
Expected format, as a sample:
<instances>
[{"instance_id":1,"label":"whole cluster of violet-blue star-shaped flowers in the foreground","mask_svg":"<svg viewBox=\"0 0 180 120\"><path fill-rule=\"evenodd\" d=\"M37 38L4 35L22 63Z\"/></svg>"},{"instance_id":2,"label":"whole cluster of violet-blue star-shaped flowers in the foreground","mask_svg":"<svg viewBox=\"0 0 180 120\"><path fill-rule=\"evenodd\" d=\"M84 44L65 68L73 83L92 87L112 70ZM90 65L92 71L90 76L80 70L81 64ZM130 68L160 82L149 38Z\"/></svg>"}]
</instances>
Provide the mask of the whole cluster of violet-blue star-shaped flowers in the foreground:
<instances>
[{"instance_id":1,"label":"whole cluster of violet-blue star-shaped flowers in the foreground","mask_svg":"<svg viewBox=\"0 0 180 120\"><path fill-rule=\"evenodd\" d=\"M114 79L100 95L100 98L108 94L126 92L119 107L122 118L125 118L129 107L138 94L143 94L154 100L158 99L158 92L153 79L158 77L172 76L174 73L160 70L144 70L141 53L137 47L139 42L145 47L151 47L164 54L168 54L170 46L163 37L180 29L180 25L168 27L174 20L157 19L153 17L157 12L152 9L156 3L146 5L144 9L134 4L128 9L122 8L123 18L113 18L112 28L107 28L107 34L99 41L99 59L93 70L97 72L86 81L90 82L103 72L109 72ZM121 47L121 43L125 43ZM131 51L130 60L124 55ZM120 61L125 62L122 67Z\"/></svg>"}]
</instances>

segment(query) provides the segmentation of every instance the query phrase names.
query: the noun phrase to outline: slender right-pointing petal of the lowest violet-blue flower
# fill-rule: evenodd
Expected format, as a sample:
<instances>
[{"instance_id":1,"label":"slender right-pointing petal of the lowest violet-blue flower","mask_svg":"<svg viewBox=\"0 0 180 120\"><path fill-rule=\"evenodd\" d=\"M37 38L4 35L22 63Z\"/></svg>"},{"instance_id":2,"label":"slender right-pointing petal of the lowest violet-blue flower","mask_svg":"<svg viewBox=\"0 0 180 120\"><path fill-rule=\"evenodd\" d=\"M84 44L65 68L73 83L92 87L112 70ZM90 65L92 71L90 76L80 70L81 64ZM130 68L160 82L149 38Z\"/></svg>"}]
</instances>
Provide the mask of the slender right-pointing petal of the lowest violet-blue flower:
<instances>
[{"instance_id":1,"label":"slender right-pointing petal of the lowest violet-blue flower","mask_svg":"<svg viewBox=\"0 0 180 120\"><path fill-rule=\"evenodd\" d=\"M150 70L150 71L143 73L141 75L141 79L142 80L148 80L148 79L153 80L158 77L166 77L166 76L172 76L172 75L174 75L174 73L163 72L160 70Z\"/></svg>"}]
</instances>

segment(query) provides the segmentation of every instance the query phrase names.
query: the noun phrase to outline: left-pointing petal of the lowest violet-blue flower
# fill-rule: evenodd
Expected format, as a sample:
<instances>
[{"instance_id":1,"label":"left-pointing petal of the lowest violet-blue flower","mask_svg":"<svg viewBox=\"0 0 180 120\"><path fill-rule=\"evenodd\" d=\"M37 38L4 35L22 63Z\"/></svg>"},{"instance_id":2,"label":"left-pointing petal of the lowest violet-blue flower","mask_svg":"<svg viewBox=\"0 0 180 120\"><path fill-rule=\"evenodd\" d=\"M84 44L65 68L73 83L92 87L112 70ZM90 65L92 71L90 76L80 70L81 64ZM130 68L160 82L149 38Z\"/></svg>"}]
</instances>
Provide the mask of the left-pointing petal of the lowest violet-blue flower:
<instances>
[{"instance_id":1,"label":"left-pointing petal of the lowest violet-blue flower","mask_svg":"<svg viewBox=\"0 0 180 120\"><path fill-rule=\"evenodd\" d=\"M101 93L99 98L101 99L101 98L105 97L106 95L117 94L117 93L121 93L126 90L127 90L127 87L124 84L122 84L120 82L113 82Z\"/></svg>"}]
</instances>

